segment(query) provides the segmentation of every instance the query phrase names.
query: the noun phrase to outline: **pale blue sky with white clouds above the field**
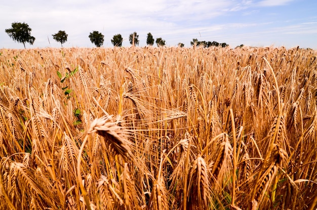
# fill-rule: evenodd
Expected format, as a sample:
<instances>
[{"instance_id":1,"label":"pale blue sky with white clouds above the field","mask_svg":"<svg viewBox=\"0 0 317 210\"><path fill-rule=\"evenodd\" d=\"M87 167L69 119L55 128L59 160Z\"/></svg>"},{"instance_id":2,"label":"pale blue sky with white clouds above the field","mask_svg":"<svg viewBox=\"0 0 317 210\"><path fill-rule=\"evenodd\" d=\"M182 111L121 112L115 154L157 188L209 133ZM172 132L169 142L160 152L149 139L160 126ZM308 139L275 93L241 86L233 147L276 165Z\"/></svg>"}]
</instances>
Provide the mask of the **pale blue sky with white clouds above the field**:
<instances>
[{"instance_id":1,"label":"pale blue sky with white clouds above the field","mask_svg":"<svg viewBox=\"0 0 317 210\"><path fill-rule=\"evenodd\" d=\"M167 46L193 38L227 43L231 48L285 46L317 49L317 1L315 0L10 0L0 6L0 48L23 48L5 29L13 22L25 22L35 37L27 48L60 47L52 34L65 30L63 47L91 48L88 35L104 35L103 47L120 33L123 46L130 46L129 34L162 37Z\"/></svg>"}]
</instances>

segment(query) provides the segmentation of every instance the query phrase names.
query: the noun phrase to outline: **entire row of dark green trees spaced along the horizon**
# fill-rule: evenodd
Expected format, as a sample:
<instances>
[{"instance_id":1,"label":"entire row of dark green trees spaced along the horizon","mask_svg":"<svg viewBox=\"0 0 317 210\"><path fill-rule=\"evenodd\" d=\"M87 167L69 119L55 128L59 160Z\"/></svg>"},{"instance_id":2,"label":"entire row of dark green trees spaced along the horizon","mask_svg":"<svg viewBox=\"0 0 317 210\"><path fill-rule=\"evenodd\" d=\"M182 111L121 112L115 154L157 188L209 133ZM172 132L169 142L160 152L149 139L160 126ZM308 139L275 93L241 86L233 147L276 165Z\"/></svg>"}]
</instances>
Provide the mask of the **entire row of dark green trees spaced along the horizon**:
<instances>
[{"instance_id":1,"label":"entire row of dark green trees spaced along the horizon","mask_svg":"<svg viewBox=\"0 0 317 210\"><path fill-rule=\"evenodd\" d=\"M35 37L31 36L32 29L29 27L27 23L20 23L20 22L14 22L11 24L12 28L6 29L6 33L14 40L18 41L18 43L22 43L25 48L25 43L29 43L30 45L33 45L35 41ZM52 34L53 39L55 39L57 42L61 44L63 47L63 44L66 43L68 34L64 30L59 30L57 33ZM100 33L99 31L93 31L89 34L90 41L96 46L101 47L104 42L104 35ZM139 45L139 35L137 32L133 32L129 35L129 41L130 44L133 46ZM122 47L123 37L120 33L113 35L111 39L111 43L114 47ZM162 38L156 38L155 43L157 47L163 47L166 45L166 41ZM152 46L154 44L154 38L151 33L147 33L146 37L146 44L149 46ZM191 46L203 46L203 47L227 47L228 45L226 43L218 43L217 41L199 41L196 38L193 38L193 40L190 42ZM183 43L178 43L178 47L184 47ZM238 46L243 47L243 45Z\"/></svg>"}]
</instances>

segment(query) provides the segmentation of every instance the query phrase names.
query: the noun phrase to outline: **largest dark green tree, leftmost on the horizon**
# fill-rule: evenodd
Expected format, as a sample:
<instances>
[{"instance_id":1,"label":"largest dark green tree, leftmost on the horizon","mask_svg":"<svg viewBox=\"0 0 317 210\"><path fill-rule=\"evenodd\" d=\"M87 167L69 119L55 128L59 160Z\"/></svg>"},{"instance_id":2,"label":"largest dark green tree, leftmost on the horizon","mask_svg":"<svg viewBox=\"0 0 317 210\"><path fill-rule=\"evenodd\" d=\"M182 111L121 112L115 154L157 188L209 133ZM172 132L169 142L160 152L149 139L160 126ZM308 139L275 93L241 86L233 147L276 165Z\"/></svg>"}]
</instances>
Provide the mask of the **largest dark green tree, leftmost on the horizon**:
<instances>
[{"instance_id":1,"label":"largest dark green tree, leftmost on the horizon","mask_svg":"<svg viewBox=\"0 0 317 210\"><path fill-rule=\"evenodd\" d=\"M35 41L35 37L31 36L32 29L26 23L12 23L12 28L6 29L6 33L12 38L14 41L18 41L18 43L23 43L25 48L25 43L29 43L33 45Z\"/></svg>"}]
</instances>

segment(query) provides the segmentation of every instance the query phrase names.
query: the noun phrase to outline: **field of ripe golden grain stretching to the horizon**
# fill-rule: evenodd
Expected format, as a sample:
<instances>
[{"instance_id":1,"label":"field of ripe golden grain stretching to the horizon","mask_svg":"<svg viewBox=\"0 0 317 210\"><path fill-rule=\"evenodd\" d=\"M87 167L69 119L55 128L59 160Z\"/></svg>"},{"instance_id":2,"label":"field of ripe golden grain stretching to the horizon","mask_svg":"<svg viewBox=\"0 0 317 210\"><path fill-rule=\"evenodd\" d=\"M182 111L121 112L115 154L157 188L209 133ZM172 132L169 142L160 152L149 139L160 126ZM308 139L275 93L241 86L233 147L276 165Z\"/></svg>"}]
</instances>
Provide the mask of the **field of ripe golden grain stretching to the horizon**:
<instances>
[{"instance_id":1,"label":"field of ripe golden grain stretching to the horizon","mask_svg":"<svg viewBox=\"0 0 317 210\"><path fill-rule=\"evenodd\" d=\"M0 50L0 209L315 209L317 52Z\"/></svg>"}]
</instances>

